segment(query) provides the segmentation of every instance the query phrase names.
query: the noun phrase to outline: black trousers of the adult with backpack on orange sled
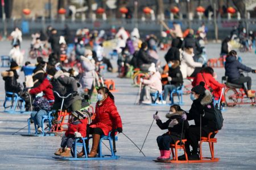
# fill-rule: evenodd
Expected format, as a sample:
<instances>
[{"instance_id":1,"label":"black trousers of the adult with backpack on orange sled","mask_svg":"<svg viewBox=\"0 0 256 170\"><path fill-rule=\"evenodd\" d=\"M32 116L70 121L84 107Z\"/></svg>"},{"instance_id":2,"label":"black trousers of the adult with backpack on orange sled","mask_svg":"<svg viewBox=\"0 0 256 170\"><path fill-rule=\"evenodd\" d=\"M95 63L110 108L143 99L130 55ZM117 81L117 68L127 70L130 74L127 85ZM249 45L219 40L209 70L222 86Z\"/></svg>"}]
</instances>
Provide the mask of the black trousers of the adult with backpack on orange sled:
<instances>
[{"instance_id":1,"label":"black trousers of the adult with backpack on orange sled","mask_svg":"<svg viewBox=\"0 0 256 170\"><path fill-rule=\"evenodd\" d=\"M213 131L209 127L202 127L201 128L201 137L207 137L208 134ZM215 134L212 134L211 138L214 137ZM185 150L187 153L190 153L189 145L192 146L193 153L197 153L197 148L199 148L199 141L200 141L200 127L199 126L189 126L188 130L185 134L187 138L187 142L185 142Z\"/></svg>"}]
</instances>

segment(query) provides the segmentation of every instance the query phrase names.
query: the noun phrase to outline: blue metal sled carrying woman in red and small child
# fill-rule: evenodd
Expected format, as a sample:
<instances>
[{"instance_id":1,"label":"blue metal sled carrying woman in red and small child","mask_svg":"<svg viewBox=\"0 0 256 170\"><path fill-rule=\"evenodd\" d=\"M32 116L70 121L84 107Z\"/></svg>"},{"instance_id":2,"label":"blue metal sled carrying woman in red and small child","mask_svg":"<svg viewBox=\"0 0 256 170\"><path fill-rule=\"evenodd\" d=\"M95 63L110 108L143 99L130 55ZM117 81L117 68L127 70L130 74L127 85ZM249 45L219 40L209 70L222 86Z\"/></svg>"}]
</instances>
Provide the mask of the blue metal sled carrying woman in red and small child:
<instances>
[{"instance_id":1,"label":"blue metal sled carrying woman in red and small child","mask_svg":"<svg viewBox=\"0 0 256 170\"><path fill-rule=\"evenodd\" d=\"M112 132L109 132L108 136L101 136L100 142L98 144L99 145L98 146L98 154L96 157L88 157L85 140L92 139L92 137L89 137L89 138L86 137L86 138L76 138L75 142L73 143L72 151L71 151L71 154L73 157L53 156L53 158L57 159L57 160L114 160L114 159L118 159L119 156L115 155L115 151L113 148L113 144L112 144L113 136L111 136L111 134L112 134ZM109 141L111 155L102 154L102 140ZM117 141L118 137L114 136L114 140ZM77 157L77 147L78 146L80 146L84 149L85 155L82 157ZM89 150L89 148L88 148L88 150Z\"/></svg>"}]
</instances>

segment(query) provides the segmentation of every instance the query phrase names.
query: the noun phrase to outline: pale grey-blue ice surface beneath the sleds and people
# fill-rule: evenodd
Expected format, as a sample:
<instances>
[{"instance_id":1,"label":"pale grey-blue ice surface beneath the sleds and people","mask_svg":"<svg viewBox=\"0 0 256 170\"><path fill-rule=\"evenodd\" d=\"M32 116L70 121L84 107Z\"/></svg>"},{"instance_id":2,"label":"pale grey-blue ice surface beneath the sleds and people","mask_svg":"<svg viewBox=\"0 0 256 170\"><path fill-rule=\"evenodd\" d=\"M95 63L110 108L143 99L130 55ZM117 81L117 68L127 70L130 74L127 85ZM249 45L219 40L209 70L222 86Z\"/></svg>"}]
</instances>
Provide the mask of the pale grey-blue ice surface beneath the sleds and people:
<instances>
[{"instance_id":1,"label":"pale grey-blue ice surface beneath the sleds and people","mask_svg":"<svg viewBox=\"0 0 256 170\"><path fill-rule=\"evenodd\" d=\"M22 49L26 52L30 42L24 40ZM10 50L10 42L0 42L0 55L6 55ZM106 53L109 49L106 50ZM166 52L160 52L162 57ZM208 44L208 57L218 57L220 44ZM256 68L256 55L254 53L239 53L243 63ZM30 61L35 62L35 60ZM114 62L114 61L113 61ZM0 68L4 71L6 68ZM218 80L224 76L224 69L214 69L218 74ZM20 73L19 81L24 80ZM148 128L152 122L152 114L159 111L159 117L163 120L169 106L135 106L134 100L138 88L131 85L130 79L117 78L117 74L106 73L107 78L115 80L118 92L114 93L115 103L123 122L123 132L129 136L139 147L142 146ZM256 75L250 73L253 79L253 89L256 89ZM2 78L0 78L0 110L5 97ZM184 96L183 109L189 110L191 100ZM94 105L95 103L93 103ZM118 160L103 161L57 161L52 159L53 153L59 147L60 136L49 137L24 137L27 128L16 135L11 135L27 125L29 115L0 113L0 169L255 169L256 167L256 108L250 105L228 108L224 112L224 127L216 135L218 143L215 145L215 156L220 157L217 163L201 164L170 164L155 163L152 159L159 156L156 137L162 135L162 131L156 123L151 128L150 134L143 147L146 157L139 154L138 149L122 134L118 135L117 155ZM190 122L192 123L192 122ZM34 127L32 127L32 131ZM106 142L105 142L106 143ZM108 150L103 146L104 151ZM204 144L204 156L209 156L209 147ZM180 154L182 154L180 152Z\"/></svg>"}]
</instances>

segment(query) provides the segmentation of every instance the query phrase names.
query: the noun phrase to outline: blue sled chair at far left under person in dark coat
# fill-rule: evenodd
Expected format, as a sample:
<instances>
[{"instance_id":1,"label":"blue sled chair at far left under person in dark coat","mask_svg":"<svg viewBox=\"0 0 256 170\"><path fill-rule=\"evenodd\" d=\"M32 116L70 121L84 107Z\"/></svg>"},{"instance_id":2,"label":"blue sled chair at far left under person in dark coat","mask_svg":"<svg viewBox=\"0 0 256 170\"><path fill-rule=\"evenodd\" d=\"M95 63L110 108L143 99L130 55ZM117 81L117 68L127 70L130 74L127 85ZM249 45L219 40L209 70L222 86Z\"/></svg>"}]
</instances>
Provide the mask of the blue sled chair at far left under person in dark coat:
<instances>
[{"instance_id":1,"label":"blue sled chair at far left under person in dark coat","mask_svg":"<svg viewBox=\"0 0 256 170\"><path fill-rule=\"evenodd\" d=\"M6 106L6 103L10 101L11 105ZM3 102L3 107L5 108L5 112L7 113L22 113L25 111L25 101L23 98L18 96L17 93L6 92L5 93L5 102ZM10 108L9 110L7 110ZM20 111L16 111L16 109L20 109Z\"/></svg>"}]
</instances>

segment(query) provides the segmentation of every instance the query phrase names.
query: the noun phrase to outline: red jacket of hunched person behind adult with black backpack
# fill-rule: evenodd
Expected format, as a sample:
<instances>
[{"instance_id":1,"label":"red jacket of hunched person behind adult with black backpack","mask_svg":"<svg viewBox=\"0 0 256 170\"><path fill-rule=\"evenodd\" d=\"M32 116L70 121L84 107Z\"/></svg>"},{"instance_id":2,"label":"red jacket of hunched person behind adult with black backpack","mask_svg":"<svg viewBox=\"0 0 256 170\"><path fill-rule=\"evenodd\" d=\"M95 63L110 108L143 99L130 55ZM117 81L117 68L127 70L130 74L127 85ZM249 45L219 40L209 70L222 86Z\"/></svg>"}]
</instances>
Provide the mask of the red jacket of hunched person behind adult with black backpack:
<instances>
[{"instance_id":1,"label":"red jacket of hunched person behind adult with black backpack","mask_svg":"<svg viewBox=\"0 0 256 170\"><path fill-rule=\"evenodd\" d=\"M204 77L202 76L202 74ZM220 88L224 87L224 85L220 84L218 81L216 81L215 78L213 78L212 74L210 74L210 73L197 73L196 77L192 81L192 86L195 87L195 86L199 85L201 81L205 82L204 88L207 90L209 90L208 86L211 88L213 88L213 86L214 86L214 88L216 86L218 86Z\"/></svg>"}]
</instances>

